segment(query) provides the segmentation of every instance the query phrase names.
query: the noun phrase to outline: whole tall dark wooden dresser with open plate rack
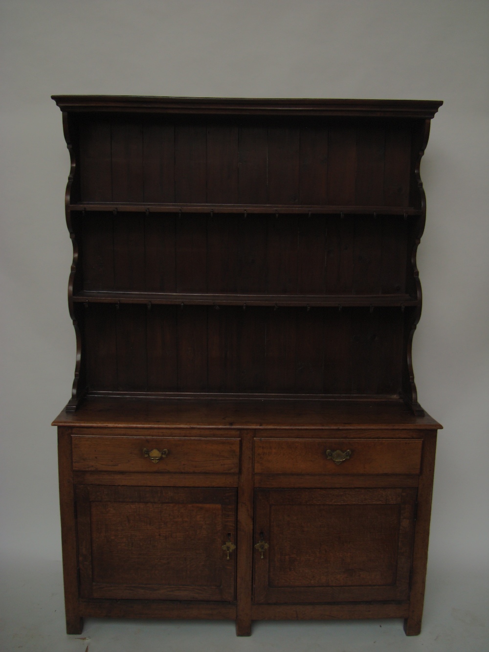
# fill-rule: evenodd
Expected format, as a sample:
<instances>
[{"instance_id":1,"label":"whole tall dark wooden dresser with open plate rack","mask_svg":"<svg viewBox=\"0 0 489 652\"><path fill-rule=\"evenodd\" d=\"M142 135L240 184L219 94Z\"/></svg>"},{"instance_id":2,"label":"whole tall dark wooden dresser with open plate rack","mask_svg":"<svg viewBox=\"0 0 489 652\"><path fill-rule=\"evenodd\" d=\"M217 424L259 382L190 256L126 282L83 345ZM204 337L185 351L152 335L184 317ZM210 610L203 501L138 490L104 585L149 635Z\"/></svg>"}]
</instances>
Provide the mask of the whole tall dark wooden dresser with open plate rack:
<instances>
[{"instance_id":1,"label":"whole tall dark wooden dresser with open plate rack","mask_svg":"<svg viewBox=\"0 0 489 652\"><path fill-rule=\"evenodd\" d=\"M68 632L95 615L419 633L441 426L411 348L441 103L54 99L77 356L54 422Z\"/></svg>"}]
</instances>

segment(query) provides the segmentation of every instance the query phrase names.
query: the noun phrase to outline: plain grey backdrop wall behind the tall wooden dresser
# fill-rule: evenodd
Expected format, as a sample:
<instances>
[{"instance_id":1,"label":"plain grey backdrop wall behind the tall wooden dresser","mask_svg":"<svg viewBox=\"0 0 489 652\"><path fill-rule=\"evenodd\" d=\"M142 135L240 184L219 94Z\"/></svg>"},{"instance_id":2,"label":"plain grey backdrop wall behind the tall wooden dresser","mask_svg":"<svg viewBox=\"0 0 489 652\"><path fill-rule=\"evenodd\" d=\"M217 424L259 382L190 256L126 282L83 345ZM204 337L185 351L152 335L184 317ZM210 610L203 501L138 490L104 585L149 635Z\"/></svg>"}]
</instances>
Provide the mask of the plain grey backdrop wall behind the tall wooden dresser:
<instances>
[{"instance_id":1,"label":"plain grey backdrop wall behind the tall wooden dresser","mask_svg":"<svg viewBox=\"0 0 489 652\"><path fill-rule=\"evenodd\" d=\"M480 580L489 540L489 3L3 0L0 10L1 561L61 558L50 422L69 397L75 341L68 153L50 95L439 99L421 168L424 307L413 351L421 405L445 426L428 588L433 569L444 581L456 572ZM454 589L447 610L465 618L459 627L475 618L477 634L486 616L475 584Z\"/></svg>"}]
</instances>

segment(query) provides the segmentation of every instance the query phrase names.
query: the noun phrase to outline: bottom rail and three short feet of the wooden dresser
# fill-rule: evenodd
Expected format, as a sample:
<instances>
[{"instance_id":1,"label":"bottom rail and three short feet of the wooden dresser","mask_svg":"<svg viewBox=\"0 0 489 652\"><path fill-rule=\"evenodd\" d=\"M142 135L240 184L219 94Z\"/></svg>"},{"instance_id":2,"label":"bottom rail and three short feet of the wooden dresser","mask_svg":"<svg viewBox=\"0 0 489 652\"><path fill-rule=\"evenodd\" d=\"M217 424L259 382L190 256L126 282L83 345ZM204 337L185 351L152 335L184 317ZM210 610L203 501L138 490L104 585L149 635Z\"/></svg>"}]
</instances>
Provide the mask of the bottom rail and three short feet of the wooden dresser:
<instances>
[{"instance_id":1,"label":"bottom rail and three short feet of the wooden dresser","mask_svg":"<svg viewBox=\"0 0 489 652\"><path fill-rule=\"evenodd\" d=\"M236 605L229 603L153 601L153 600L83 600L80 615L67 620L67 634L81 634L83 617L158 618L235 620ZM408 618L409 602L368 604L254 604L249 623L236 623L237 636L250 636L254 620L357 620L404 618L407 636L416 636L421 627Z\"/></svg>"}]
</instances>

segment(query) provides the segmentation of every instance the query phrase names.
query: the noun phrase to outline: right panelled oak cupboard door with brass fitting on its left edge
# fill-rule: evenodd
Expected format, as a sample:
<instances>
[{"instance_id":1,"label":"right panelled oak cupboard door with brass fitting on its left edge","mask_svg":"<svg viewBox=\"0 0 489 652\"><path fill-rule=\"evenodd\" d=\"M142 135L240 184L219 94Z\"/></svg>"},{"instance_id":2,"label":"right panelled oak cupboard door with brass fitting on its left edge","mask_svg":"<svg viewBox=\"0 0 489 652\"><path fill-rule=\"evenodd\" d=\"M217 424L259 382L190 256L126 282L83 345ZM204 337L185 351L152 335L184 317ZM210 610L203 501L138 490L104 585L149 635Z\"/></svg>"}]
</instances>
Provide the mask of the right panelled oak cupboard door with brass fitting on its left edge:
<instances>
[{"instance_id":1,"label":"right panelled oak cupboard door with brass fitting on its left edge","mask_svg":"<svg viewBox=\"0 0 489 652\"><path fill-rule=\"evenodd\" d=\"M408 599L416 491L256 490L254 602Z\"/></svg>"}]
</instances>

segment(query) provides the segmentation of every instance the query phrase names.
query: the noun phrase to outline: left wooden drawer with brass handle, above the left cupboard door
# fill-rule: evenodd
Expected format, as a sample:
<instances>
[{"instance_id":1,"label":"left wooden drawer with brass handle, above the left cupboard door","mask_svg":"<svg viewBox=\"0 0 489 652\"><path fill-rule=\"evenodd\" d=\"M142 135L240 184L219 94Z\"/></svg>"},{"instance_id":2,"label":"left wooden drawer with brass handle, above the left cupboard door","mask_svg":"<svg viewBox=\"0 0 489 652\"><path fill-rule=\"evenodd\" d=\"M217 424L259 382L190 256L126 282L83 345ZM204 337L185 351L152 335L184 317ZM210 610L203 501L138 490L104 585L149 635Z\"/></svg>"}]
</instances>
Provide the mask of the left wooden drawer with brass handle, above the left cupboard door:
<instances>
[{"instance_id":1,"label":"left wooden drawer with brass handle, above the left cupboard door","mask_svg":"<svg viewBox=\"0 0 489 652\"><path fill-rule=\"evenodd\" d=\"M75 471L239 473L239 439L72 436ZM166 451L157 462L156 449Z\"/></svg>"}]
</instances>

